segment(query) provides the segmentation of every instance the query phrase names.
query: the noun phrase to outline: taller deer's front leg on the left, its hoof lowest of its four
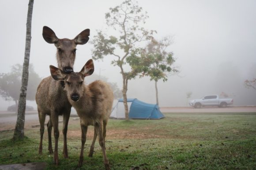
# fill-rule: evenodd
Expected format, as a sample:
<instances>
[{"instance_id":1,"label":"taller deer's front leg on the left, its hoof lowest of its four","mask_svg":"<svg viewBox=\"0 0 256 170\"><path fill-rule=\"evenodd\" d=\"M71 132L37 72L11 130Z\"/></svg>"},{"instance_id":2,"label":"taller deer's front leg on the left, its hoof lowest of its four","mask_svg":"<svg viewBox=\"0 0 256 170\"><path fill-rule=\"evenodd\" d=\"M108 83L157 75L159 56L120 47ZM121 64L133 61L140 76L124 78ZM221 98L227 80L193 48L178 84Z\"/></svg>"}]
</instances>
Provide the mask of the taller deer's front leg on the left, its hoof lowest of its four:
<instances>
[{"instance_id":1,"label":"taller deer's front leg on the left, its hoof lowest of its four","mask_svg":"<svg viewBox=\"0 0 256 170\"><path fill-rule=\"evenodd\" d=\"M59 165L59 155L58 155L58 140L60 136L60 131L58 127L59 123L59 116L56 112L51 112L51 119L53 123L53 133L55 139L55 146L54 146L54 155L53 155L53 163Z\"/></svg>"}]
</instances>

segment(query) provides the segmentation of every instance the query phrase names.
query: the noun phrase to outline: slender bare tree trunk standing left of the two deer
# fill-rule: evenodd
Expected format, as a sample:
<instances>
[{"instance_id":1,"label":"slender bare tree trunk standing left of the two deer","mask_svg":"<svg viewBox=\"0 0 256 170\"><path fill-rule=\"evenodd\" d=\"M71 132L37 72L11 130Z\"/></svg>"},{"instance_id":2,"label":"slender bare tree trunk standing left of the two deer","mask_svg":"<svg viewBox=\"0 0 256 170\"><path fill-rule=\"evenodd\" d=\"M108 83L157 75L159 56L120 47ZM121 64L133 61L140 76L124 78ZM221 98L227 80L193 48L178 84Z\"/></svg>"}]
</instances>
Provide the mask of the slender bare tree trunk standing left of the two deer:
<instances>
[{"instance_id":1,"label":"slender bare tree trunk standing left of the two deer","mask_svg":"<svg viewBox=\"0 0 256 170\"><path fill-rule=\"evenodd\" d=\"M31 21L33 12L34 0L29 0L27 20L26 20L26 45L25 56L23 62L22 85L19 95L18 115L13 135L13 140L19 140L24 137L25 110L26 110L26 89L28 83L28 68L30 59L30 44L31 44Z\"/></svg>"}]
</instances>

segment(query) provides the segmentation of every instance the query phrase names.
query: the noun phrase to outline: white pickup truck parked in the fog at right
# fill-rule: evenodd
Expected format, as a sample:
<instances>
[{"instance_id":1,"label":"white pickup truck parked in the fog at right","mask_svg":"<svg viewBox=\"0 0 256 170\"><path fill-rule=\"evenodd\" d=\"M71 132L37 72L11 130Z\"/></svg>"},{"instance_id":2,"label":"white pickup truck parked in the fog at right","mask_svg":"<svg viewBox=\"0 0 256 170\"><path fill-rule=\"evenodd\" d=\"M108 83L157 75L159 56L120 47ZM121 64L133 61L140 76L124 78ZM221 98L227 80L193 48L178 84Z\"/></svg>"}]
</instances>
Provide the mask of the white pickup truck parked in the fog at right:
<instances>
[{"instance_id":1,"label":"white pickup truck parked in the fog at right","mask_svg":"<svg viewBox=\"0 0 256 170\"><path fill-rule=\"evenodd\" d=\"M189 105L195 108L201 108L202 106L227 107L230 104L233 104L233 99L219 99L218 95L207 95L201 99L195 99L189 102Z\"/></svg>"}]
</instances>

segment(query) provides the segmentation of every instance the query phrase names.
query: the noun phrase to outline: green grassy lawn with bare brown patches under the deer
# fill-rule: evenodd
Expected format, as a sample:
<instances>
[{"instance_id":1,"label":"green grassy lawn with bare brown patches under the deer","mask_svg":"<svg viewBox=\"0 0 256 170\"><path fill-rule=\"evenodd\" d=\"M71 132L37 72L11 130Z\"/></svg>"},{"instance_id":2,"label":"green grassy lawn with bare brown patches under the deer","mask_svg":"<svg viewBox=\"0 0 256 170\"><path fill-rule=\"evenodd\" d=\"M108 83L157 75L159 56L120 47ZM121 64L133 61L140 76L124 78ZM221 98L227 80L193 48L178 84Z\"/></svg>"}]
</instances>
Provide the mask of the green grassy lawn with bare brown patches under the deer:
<instances>
[{"instance_id":1,"label":"green grassy lawn with bare brown patches under the deer","mask_svg":"<svg viewBox=\"0 0 256 170\"><path fill-rule=\"evenodd\" d=\"M106 151L113 170L256 169L256 113L167 113L161 120L109 120ZM60 123L60 132L62 124ZM46 162L47 168L78 169L81 147L79 120L68 126L68 154L53 165L45 128L43 154L38 155L39 128L25 129L26 139L13 142L13 131L0 132L0 164ZM89 158L93 127L87 133L84 170L103 170L98 142ZM53 138L54 139L54 138ZM53 142L54 146L54 142Z\"/></svg>"}]
</instances>

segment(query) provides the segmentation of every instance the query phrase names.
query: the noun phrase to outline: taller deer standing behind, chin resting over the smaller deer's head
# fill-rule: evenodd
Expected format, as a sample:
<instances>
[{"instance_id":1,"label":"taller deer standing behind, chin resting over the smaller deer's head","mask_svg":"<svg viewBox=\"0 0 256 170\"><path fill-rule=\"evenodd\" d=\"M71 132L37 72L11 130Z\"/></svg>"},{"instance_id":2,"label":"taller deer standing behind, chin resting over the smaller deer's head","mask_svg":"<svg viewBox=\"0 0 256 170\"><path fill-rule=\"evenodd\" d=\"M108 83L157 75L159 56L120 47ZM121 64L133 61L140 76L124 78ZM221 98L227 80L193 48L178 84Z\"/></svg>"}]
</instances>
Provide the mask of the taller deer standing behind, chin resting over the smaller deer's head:
<instances>
[{"instance_id":1,"label":"taller deer standing behind, chin resting over the smaller deer's head","mask_svg":"<svg viewBox=\"0 0 256 170\"><path fill-rule=\"evenodd\" d=\"M89 40L90 30L86 29L79 33L74 39L68 38L59 39L56 37L53 30L49 27L43 27L43 37L46 42L54 44L57 48L56 58L58 67L61 68L66 74L73 71L73 65L75 61L75 50L77 44L86 44ZM38 105L38 116L40 122L40 144L39 154L42 153L42 140L44 134L45 116L50 115L49 122L47 123L48 140L49 140L49 152L53 153L51 133L52 127L54 130L55 148L53 162L58 165L58 118L59 115L63 115L63 136L64 136L64 148L63 154L65 158L68 158L67 149L67 130L68 120L71 111L71 104L68 102L66 92L64 91L64 81L55 81L51 76L44 78L38 85L36 92L36 103Z\"/></svg>"}]
</instances>

